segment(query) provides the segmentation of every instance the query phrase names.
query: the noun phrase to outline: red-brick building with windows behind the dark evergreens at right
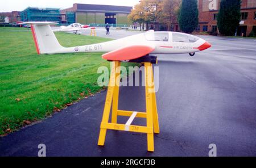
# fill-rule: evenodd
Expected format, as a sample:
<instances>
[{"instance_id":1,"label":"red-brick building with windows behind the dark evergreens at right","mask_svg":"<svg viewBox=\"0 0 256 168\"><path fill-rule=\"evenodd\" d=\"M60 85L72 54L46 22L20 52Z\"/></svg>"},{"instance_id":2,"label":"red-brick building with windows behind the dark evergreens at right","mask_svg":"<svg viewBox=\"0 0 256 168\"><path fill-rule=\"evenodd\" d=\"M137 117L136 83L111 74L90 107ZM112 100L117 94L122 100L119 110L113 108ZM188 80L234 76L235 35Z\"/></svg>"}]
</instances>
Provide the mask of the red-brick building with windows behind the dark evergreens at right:
<instances>
[{"instance_id":1,"label":"red-brick building with windows behind the dark evergreens at right","mask_svg":"<svg viewBox=\"0 0 256 168\"><path fill-rule=\"evenodd\" d=\"M199 26L196 31L216 32L217 16L220 0L199 0ZM251 31L256 31L256 0L242 0L241 22L237 29L237 36L248 36Z\"/></svg>"}]
</instances>

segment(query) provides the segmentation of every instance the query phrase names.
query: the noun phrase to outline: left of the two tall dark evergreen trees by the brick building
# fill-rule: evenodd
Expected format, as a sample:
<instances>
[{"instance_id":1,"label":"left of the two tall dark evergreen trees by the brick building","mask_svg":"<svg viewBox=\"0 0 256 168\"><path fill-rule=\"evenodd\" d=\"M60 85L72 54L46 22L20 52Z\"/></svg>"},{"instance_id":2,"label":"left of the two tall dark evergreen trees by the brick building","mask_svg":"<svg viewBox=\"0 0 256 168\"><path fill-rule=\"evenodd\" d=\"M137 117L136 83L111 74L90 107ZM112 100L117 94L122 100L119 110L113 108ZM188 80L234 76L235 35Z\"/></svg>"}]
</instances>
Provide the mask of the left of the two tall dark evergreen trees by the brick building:
<instances>
[{"instance_id":1,"label":"left of the two tall dark evergreen trees by the brick building","mask_svg":"<svg viewBox=\"0 0 256 168\"><path fill-rule=\"evenodd\" d=\"M183 0L178 18L181 31L191 33L198 25L197 0Z\"/></svg>"}]
</instances>

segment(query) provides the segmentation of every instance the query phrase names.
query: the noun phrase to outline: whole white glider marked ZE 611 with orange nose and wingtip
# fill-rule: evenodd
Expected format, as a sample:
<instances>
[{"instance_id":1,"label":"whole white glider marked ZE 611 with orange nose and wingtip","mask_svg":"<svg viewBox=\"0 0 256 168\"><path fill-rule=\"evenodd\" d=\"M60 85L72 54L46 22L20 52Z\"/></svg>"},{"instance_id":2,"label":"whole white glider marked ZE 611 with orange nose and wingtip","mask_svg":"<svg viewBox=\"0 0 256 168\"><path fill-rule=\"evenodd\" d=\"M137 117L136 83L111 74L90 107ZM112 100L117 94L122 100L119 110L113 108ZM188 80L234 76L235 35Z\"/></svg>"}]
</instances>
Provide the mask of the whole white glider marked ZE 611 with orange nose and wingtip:
<instances>
[{"instance_id":1,"label":"whole white glider marked ZE 611 with orange nose and wingtip","mask_svg":"<svg viewBox=\"0 0 256 168\"><path fill-rule=\"evenodd\" d=\"M31 24L38 54L104 52L102 58L109 61L129 61L148 54L181 54L203 51L211 45L200 37L180 32L147 31L104 43L63 47L59 44L50 25L52 22L25 22Z\"/></svg>"}]
</instances>

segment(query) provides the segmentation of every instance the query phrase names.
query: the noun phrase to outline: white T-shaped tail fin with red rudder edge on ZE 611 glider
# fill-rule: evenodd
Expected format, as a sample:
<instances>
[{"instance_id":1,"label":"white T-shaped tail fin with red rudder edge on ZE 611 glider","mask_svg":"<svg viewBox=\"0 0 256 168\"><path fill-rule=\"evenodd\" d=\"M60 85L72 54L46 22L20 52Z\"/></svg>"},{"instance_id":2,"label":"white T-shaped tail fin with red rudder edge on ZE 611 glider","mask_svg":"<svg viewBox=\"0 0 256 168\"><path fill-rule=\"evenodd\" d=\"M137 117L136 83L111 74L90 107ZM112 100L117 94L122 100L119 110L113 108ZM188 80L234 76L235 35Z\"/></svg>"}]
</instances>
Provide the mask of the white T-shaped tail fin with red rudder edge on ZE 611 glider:
<instances>
[{"instance_id":1,"label":"white T-shaped tail fin with red rudder edge on ZE 611 glider","mask_svg":"<svg viewBox=\"0 0 256 168\"><path fill-rule=\"evenodd\" d=\"M36 45L38 54L53 54L58 53L62 47L56 39L50 24L53 22L24 22L22 24L31 24L31 31Z\"/></svg>"}]
</instances>

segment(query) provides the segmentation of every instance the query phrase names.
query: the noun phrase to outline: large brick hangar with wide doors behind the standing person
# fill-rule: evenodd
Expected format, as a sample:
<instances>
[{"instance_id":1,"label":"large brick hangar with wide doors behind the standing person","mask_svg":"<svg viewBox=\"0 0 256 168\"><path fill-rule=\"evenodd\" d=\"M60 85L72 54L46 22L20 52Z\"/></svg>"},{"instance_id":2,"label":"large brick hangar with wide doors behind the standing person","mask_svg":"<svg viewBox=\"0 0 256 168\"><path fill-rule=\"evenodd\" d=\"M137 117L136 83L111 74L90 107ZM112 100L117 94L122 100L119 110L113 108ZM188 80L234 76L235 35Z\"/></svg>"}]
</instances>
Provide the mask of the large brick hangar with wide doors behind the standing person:
<instances>
[{"instance_id":1,"label":"large brick hangar with wide doors behind the standing person","mask_svg":"<svg viewBox=\"0 0 256 168\"><path fill-rule=\"evenodd\" d=\"M124 24L130 26L131 22L127 16L133 7L110 6L110 5L89 5L74 3L73 7L61 10L61 22L68 20L72 12L75 15L75 22L81 24Z\"/></svg>"}]
</instances>

